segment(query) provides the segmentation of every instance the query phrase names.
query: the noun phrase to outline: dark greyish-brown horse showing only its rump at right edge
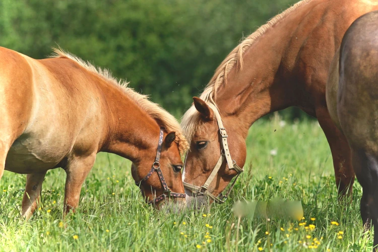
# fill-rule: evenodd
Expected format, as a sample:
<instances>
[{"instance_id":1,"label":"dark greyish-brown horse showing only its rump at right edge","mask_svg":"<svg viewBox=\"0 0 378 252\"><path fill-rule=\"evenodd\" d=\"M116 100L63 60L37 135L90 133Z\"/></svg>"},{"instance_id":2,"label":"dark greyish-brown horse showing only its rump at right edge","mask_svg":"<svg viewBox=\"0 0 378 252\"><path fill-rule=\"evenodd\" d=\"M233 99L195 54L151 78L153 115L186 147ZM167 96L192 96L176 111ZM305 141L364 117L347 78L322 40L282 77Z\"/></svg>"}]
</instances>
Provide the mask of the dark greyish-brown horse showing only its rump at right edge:
<instances>
[{"instance_id":1,"label":"dark greyish-brown horse showing only its rump at right edge","mask_svg":"<svg viewBox=\"0 0 378 252\"><path fill-rule=\"evenodd\" d=\"M378 11L358 18L344 35L330 68L327 104L344 133L362 186L360 211L378 245ZM376 248L374 249L376 251Z\"/></svg>"}]
</instances>

